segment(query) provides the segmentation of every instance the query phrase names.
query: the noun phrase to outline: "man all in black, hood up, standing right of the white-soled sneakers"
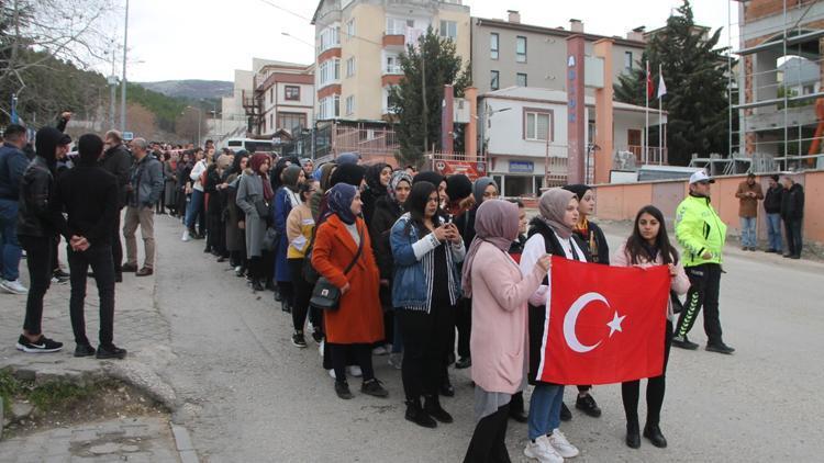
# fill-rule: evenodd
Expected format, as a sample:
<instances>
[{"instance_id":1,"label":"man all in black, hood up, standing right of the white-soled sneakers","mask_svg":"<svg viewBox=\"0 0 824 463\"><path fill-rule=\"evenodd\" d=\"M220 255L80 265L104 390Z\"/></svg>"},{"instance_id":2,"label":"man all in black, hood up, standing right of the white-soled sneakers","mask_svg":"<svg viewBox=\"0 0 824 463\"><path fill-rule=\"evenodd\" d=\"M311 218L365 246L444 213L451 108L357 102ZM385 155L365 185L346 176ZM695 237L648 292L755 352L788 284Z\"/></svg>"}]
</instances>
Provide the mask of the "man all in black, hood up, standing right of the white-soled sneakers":
<instances>
[{"instance_id":1,"label":"man all in black, hood up, standing right of the white-soled sneakers","mask_svg":"<svg viewBox=\"0 0 824 463\"><path fill-rule=\"evenodd\" d=\"M73 239L77 246L68 250L71 273L69 314L75 332L75 357L96 353L86 337L83 309L86 305L86 276L89 267L100 297L100 345L98 359L122 359L126 355L112 342L114 331L114 268L111 250L111 228L118 211L118 180L98 165L103 151L103 140L87 134L78 140L80 159L77 166L57 180L53 208L68 215L67 233L81 237Z\"/></svg>"}]
</instances>

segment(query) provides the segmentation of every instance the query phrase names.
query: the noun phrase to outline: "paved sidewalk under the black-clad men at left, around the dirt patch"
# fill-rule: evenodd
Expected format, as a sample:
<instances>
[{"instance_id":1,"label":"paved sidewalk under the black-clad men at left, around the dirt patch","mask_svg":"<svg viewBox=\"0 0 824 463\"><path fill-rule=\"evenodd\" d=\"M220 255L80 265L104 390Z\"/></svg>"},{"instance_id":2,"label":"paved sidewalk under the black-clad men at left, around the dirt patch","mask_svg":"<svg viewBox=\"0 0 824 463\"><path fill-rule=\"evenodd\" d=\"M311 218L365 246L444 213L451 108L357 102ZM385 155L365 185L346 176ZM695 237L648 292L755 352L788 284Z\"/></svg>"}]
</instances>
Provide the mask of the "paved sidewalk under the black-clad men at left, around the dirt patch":
<instances>
[{"instance_id":1,"label":"paved sidewalk under the black-clad men at left, around the dirt patch","mask_svg":"<svg viewBox=\"0 0 824 463\"><path fill-rule=\"evenodd\" d=\"M65 245L60 261L66 262ZM21 281L29 285L25 259L20 262ZM32 354L15 349L25 314L26 296L0 294L0 369L11 369L20 379L37 384L65 381L78 385L101 379L118 379L137 387L153 399L176 409L176 395L156 372L175 354L170 349L168 321L155 305L155 276L136 278L125 273L115 286L114 342L129 351L124 360L100 361L73 357L75 342L69 320L70 286L52 284L44 300L43 332L64 343L60 352ZM86 330L98 345L99 300L92 278L87 284ZM7 417L9 419L9 417ZM176 432L172 433L172 428ZM176 437L179 436L176 447ZM185 441L185 442L183 442ZM197 462L185 428L168 417L124 417L116 420L80 424L45 430L13 439L3 438L0 461Z\"/></svg>"}]
</instances>

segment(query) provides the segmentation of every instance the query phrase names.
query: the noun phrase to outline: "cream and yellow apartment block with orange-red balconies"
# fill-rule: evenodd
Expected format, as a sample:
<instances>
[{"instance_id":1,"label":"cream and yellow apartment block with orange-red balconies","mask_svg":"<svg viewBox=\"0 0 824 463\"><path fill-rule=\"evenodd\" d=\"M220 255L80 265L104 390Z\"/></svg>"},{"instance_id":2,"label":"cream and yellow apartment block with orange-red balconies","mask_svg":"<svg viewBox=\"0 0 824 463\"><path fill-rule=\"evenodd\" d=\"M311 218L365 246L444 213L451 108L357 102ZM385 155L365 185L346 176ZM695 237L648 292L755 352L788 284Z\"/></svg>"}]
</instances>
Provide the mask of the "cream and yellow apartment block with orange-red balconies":
<instances>
[{"instance_id":1,"label":"cream and yellow apartment block with orange-red balconies","mask_svg":"<svg viewBox=\"0 0 824 463\"><path fill-rule=\"evenodd\" d=\"M385 121L389 88L402 77L399 56L428 27L469 61L463 0L321 0L312 24L319 121Z\"/></svg>"}]
</instances>

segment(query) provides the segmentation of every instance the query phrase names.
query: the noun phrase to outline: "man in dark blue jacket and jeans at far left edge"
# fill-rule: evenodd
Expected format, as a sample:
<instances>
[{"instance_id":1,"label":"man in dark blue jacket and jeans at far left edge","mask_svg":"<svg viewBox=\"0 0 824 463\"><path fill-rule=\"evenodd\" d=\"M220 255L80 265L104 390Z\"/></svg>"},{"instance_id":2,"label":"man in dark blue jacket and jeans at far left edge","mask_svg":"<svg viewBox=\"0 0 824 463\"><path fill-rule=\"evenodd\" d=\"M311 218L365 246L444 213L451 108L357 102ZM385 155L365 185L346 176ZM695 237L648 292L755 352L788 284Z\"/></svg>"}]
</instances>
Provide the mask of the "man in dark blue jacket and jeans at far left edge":
<instances>
[{"instance_id":1,"label":"man in dark blue jacket and jeans at far left edge","mask_svg":"<svg viewBox=\"0 0 824 463\"><path fill-rule=\"evenodd\" d=\"M16 232L20 180L29 166L23 151L27 143L25 127L11 124L5 127L0 147L0 287L12 294L29 291L19 280L22 252Z\"/></svg>"}]
</instances>

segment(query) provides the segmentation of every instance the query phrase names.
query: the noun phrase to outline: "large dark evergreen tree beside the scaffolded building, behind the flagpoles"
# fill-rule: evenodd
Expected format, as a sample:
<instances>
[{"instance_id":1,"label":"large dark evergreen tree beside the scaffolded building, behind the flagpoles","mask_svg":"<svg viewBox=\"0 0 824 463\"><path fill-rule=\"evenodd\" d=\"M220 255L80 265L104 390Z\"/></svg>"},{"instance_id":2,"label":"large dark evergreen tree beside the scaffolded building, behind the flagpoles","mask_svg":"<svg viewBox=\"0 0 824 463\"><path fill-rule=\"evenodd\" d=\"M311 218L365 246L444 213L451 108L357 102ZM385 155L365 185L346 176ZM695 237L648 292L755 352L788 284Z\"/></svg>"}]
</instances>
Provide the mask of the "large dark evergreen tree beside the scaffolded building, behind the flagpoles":
<instances>
[{"instance_id":1,"label":"large dark evergreen tree beside the scaffolded building, behind the flagpoles","mask_svg":"<svg viewBox=\"0 0 824 463\"><path fill-rule=\"evenodd\" d=\"M678 14L667 19L667 25L647 43L641 66L619 77L615 100L643 106L645 104L645 66L649 60L657 88L658 65L661 65L667 94L664 110L668 112L667 147L669 162L689 163L693 153L706 156L728 150L726 48L716 49L721 29L709 37L693 21L689 0L678 8ZM650 106L657 101L650 99ZM657 129L650 138L657 140ZM650 139L653 142L653 139Z\"/></svg>"}]
</instances>

